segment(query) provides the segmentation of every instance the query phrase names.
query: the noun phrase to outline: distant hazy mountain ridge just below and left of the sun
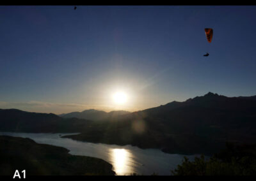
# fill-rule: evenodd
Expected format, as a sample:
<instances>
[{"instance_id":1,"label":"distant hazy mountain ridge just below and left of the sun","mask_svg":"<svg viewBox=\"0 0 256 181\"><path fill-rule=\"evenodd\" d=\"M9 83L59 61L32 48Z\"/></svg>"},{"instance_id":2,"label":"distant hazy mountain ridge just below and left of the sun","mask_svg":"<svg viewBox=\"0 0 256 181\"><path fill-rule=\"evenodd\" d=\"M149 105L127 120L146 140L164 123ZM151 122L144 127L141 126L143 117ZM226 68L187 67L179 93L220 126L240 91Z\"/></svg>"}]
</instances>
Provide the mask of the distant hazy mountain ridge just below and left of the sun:
<instances>
[{"instance_id":1,"label":"distant hazy mountain ridge just below and left of the sun","mask_svg":"<svg viewBox=\"0 0 256 181\"><path fill-rule=\"evenodd\" d=\"M112 112L104 112L104 111L99 111L99 110L84 110L83 112L71 112L71 113L65 113L61 114L60 117L63 118L72 118L76 117L78 119L88 119L88 120L104 120L104 119L109 119L111 117L116 117L118 115L124 115L130 112L126 111L112 111Z\"/></svg>"}]
</instances>

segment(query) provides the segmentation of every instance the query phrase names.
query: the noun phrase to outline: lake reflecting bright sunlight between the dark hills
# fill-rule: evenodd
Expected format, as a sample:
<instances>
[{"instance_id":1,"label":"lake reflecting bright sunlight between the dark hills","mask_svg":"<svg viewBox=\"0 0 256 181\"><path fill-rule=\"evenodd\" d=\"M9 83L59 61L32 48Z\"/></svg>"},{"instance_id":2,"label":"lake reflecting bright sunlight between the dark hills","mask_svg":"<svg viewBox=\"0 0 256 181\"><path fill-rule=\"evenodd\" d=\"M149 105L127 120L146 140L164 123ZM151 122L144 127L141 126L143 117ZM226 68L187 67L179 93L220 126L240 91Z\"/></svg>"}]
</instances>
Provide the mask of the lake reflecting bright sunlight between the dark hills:
<instances>
[{"instance_id":1,"label":"lake reflecting bright sunlight between the dark hills","mask_svg":"<svg viewBox=\"0 0 256 181\"><path fill-rule=\"evenodd\" d=\"M77 133L74 133L77 134ZM102 143L89 143L76 141L60 136L70 135L65 133L10 133L0 132L0 135L31 138L36 143L44 143L64 147L70 154L77 156L90 156L104 159L113 165L116 175L171 175L178 164L182 163L184 155L166 154L158 149L141 149L131 145L118 146ZM194 160L195 156L186 156Z\"/></svg>"}]
</instances>

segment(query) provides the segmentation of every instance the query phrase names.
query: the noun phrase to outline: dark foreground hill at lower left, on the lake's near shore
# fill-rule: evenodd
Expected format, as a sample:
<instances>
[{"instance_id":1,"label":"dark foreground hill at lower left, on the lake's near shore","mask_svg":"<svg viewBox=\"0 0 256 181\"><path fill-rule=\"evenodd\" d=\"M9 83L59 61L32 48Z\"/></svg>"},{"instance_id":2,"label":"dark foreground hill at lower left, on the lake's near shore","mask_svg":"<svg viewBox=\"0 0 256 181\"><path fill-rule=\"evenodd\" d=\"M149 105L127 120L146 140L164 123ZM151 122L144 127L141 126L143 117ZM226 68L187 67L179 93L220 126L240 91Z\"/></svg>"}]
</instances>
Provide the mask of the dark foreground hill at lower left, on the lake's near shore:
<instances>
[{"instance_id":1,"label":"dark foreground hill at lower left, on the lake's near shore","mask_svg":"<svg viewBox=\"0 0 256 181\"><path fill-rule=\"evenodd\" d=\"M93 157L72 156L62 147L38 144L29 138L0 136L0 175L115 175L112 165ZM21 174L21 173L20 173Z\"/></svg>"}]
</instances>

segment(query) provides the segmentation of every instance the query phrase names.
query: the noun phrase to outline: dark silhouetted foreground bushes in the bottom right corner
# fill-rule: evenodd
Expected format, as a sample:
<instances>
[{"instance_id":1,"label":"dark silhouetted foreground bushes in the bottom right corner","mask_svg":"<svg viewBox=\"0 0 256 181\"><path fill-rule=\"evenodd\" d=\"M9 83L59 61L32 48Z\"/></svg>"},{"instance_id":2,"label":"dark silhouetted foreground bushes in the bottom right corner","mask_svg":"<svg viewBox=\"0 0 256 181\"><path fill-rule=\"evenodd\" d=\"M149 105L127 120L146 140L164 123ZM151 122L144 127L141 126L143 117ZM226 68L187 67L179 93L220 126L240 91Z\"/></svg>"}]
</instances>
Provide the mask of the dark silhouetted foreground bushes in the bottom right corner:
<instances>
[{"instance_id":1,"label":"dark silhouetted foreground bushes in the bottom right corner","mask_svg":"<svg viewBox=\"0 0 256 181\"><path fill-rule=\"evenodd\" d=\"M173 175L256 175L256 145L234 145L214 154L208 161L204 155L189 161L184 157Z\"/></svg>"}]
</instances>

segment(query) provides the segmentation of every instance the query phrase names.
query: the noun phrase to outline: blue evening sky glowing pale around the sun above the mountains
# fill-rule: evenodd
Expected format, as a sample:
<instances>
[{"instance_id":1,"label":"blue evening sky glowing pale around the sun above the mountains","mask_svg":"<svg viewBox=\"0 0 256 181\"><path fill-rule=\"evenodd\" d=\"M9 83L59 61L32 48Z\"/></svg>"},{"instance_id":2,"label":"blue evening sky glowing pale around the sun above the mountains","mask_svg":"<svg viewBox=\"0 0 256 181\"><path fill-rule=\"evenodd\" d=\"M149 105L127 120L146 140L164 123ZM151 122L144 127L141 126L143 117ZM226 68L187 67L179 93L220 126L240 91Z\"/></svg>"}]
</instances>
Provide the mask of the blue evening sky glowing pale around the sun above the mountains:
<instances>
[{"instance_id":1,"label":"blue evening sky glowing pale around the sun above the mountains","mask_svg":"<svg viewBox=\"0 0 256 181\"><path fill-rule=\"evenodd\" d=\"M132 112L256 95L255 22L256 6L0 6L0 108Z\"/></svg>"}]
</instances>

